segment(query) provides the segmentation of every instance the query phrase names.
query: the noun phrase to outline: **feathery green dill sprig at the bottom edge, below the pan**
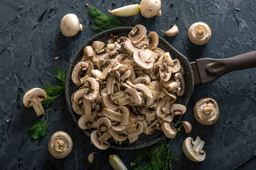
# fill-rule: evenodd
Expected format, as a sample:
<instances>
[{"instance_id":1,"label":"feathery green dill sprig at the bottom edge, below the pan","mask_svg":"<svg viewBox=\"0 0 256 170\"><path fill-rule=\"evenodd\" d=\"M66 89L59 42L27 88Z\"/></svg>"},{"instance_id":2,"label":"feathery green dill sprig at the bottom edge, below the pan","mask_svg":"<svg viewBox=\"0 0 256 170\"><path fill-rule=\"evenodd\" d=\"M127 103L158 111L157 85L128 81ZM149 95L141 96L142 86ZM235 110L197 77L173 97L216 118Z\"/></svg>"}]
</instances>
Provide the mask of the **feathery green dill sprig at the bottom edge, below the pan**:
<instances>
[{"instance_id":1,"label":"feathery green dill sprig at the bottom edge, below the pan","mask_svg":"<svg viewBox=\"0 0 256 170\"><path fill-rule=\"evenodd\" d=\"M182 123L180 124L180 127L177 128L177 133L180 131L181 127ZM134 151L137 156L132 162L131 166L140 163L140 161L143 159L150 159L149 162L146 162L134 170L172 170L172 163L179 160L175 158L175 153L170 153L170 144L172 141L173 139L166 144L166 139L163 139L158 142L156 146L146 147L144 149Z\"/></svg>"}]
</instances>

